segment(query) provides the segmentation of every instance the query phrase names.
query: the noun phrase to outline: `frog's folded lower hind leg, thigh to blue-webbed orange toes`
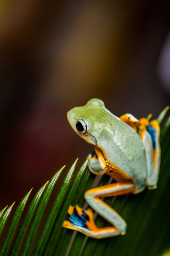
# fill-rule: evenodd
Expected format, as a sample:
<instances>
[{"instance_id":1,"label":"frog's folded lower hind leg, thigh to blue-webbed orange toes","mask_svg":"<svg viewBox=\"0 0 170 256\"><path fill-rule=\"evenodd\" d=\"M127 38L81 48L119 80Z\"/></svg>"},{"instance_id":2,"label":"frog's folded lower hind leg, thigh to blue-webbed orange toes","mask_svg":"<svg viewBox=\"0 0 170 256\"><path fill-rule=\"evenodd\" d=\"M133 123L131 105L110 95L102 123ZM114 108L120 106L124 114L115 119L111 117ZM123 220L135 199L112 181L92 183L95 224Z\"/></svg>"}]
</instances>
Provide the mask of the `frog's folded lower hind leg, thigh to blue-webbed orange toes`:
<instances>
[{"instance_id":1,"label":"frog's folded lower hind leg, thigh to blue-webbed orange toes","mask_svg":"<svg viewBox=\"0 0 170 256\"><path fill-rule=\"evenodd\" d=\"M98 188L90 189L85 193L85 200L105 220L110 222L112 227L98 228L94 223L94 214L91 209L83 210L76 206L70 207L68 221L64 221L62 227L77 230L86 236L101 239L105 237L124 235L127 224L122 217L115 212L108 204L102 201L101 197L110 197L136 193L134 183L113 183Z\"/></svg>"}]
</instances>

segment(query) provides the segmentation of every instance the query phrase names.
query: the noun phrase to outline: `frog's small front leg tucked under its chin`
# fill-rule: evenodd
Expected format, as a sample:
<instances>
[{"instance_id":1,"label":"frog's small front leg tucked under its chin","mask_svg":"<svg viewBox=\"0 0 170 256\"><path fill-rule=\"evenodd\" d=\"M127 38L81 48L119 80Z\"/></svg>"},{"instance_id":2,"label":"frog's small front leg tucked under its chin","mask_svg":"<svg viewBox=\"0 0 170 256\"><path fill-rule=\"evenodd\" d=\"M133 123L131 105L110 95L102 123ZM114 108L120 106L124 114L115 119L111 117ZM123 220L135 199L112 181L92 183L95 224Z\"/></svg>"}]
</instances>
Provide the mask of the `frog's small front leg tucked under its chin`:
<instances>
[{"instance_id":1,"label":"frog's small front leg tucked under its chin","mask_svg":"<svg viewBox=\"0 0 170 256\"><path fill-rule=\"evenodd\" d=\"M107 171L105 159L99 148L94 147L94 150L94 153L88 155L88 169L95 175L103 175Z\"/></svg>"}]
</instances>

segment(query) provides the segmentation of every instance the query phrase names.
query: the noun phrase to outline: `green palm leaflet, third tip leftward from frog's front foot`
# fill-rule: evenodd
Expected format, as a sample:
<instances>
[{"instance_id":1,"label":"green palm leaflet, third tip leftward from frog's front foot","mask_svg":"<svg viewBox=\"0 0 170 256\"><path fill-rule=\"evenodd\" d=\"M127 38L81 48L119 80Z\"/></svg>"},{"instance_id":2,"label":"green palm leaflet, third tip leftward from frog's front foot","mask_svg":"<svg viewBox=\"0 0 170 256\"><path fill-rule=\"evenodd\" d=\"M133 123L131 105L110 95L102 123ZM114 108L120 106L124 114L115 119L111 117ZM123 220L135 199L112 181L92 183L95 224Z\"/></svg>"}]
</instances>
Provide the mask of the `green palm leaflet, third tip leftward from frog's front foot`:
<instances>
[{"instance_id":1,"label":"green palm leaflet, third tip leftward from frog's front foot","mask_svg":"<svg viewBox=\"0 0 170 256\"><path fill-rule=\"evenodd\" d=\"M35 213L33 222L31 224L30 230L28 232L28 236L26 238L25 244L23 246L23 250L21 252L21 256L28 256L31 253L32 246L34 244L35 237L37 235L38 228L40 226L42 216L44 214L46 205L48 203L48 200L50 198L51 192L54 189L54 186L57 182L57 179L59 175L61 174L62 170L64 169L65 166L62 167L50 180L48 183L47 188L45 189L45 192L42 196L42 199L40 201L40 205L37 208L37 211Z\"/></svg>"}]
</instances>

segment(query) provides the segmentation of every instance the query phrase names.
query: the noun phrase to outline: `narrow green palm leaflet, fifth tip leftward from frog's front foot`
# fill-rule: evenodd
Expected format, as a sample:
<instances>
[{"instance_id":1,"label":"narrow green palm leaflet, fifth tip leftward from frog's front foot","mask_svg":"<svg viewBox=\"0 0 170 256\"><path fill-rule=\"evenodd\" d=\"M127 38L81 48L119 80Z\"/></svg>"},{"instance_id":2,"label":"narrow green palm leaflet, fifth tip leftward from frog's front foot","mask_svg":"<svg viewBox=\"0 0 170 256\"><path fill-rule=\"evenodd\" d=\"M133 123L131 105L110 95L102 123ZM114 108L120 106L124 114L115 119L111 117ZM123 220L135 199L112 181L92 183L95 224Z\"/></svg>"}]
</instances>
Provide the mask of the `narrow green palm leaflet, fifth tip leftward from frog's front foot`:
<instances>
[{"instance_id":1,"label":"narrow green palm leaflet, fifth tip leftward from frog's front foot","mask_svg":"<svg viewBox=\"0 0 170 256\"><path fill-rule=\"evenodd\" d=\"M22 215L23 209L26 206L26 202L28 200L28 197L29 197L31 191L32 191L32 189L28 192L28 194L26 194L26 196L20 202L20 204L19 204L19 206L18 206L18 208L17 208L17 210L14 214L14 217L12 218L11 224L8 228L7 233L6 233L6 237L3 241L3 245L0 249L0 256L6 256L7 253L8 253L9 247L11 245L11 242L12 242L13 238L14 238L15 230L17 228L18 222L19 222L20 217Z\"/></svg>"}]
</instances>

